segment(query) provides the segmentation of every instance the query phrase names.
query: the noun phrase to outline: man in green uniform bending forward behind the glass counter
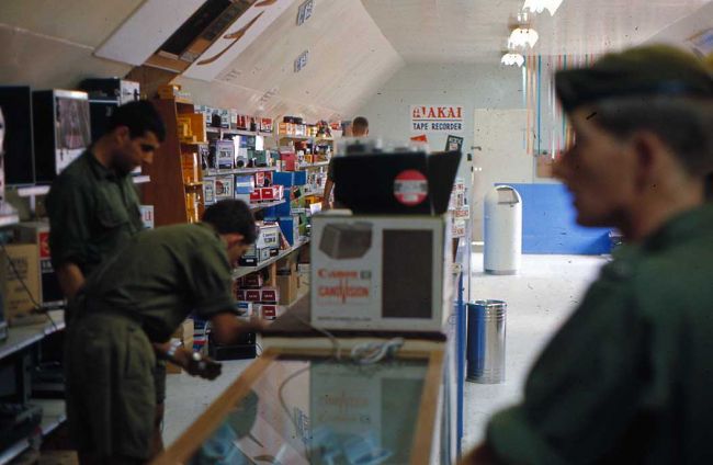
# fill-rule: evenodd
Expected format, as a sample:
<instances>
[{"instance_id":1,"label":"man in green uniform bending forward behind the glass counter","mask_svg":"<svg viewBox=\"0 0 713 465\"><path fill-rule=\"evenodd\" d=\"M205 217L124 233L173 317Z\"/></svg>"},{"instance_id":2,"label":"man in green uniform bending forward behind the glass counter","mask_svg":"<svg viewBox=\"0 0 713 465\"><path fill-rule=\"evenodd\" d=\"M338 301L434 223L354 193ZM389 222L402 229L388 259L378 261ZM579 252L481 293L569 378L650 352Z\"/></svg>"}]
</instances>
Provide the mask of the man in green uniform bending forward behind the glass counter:
<instances>
[{"instance_id":1,"label":"man in green uniform bending forward behind the glass counter","mask_svg":"<svg viewBox=\"0 0 713 465\"><path fill-rule=\"evenodd\" d=\"M236 318L231 294L231 265L258 236L250 208L222 201L203 220L136 235L72 302L67 418L82 464L150 458L157 356L192 375L219 374L219 364L168 343L191 311L211 321L220 342L260 327Z\"/></svg>"}]
</instances>

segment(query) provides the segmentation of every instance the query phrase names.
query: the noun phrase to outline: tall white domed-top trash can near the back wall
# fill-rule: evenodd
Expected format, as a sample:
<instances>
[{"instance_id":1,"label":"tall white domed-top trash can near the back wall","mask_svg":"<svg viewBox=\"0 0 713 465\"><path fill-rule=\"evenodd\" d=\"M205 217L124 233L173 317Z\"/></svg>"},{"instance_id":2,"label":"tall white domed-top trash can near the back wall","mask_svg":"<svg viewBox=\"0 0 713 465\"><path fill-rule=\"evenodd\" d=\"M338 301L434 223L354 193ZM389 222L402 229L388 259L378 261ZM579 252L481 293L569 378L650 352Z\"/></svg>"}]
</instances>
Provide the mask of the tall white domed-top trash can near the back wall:
<instances>
[{"instance_id":1,"label":"tall white domed-top trash can near the back wall","mask_svg":"<svg viewBox=\"0 0 713 465\"><path fill-rule=\"evenodd\" d=\"M509 185L485 196L483 259L486 273L516 274L522 257L522 199Z\"/></svg>"}]
</instances>

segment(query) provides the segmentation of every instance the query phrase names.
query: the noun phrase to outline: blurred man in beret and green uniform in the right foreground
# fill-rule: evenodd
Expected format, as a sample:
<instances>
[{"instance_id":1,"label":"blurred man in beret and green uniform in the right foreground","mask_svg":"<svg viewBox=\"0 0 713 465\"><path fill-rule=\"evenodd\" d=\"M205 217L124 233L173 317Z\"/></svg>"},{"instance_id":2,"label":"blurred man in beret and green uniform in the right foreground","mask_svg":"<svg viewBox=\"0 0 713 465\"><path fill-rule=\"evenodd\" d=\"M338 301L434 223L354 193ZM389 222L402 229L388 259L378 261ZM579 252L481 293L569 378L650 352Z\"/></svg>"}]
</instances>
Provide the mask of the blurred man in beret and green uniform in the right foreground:
<instances>
[{"instance_id":1,"label":"blurred man in beret and green uniform in the right foreground","mask_svg":"<svg viewBox=\"0 0 713 465\"><path fill-rule=\"evenodd\" d=\"M555 172L614 252L465 463L713 463L713 79L667 46L559 71Z\"/></svg>"}]
</instances>

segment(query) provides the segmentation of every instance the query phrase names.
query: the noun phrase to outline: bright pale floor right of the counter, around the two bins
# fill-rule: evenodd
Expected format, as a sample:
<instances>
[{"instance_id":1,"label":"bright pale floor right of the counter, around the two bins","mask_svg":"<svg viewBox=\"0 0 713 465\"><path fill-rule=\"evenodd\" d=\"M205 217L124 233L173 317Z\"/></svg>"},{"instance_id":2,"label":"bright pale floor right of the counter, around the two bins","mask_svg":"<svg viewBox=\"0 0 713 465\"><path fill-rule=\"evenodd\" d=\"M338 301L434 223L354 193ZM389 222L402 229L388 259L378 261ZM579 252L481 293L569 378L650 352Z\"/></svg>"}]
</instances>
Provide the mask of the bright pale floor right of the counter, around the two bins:
<instances>
[{"instance_id":1,"label":"bright pale floor right of the counter, around the two bins","mask_svg":"<svg viewBox=\"0 0 713 465\"><path fill-rule=\"evenodd\" d=\"M483 256L473 256L472 299L508 304L506 382L465 384L463 449L480 442L494 411L518 401L528 371L543 344L565 321L604 263L602 257L523 256L518 275L483 273Z\"/></svg>"}]
</instances>

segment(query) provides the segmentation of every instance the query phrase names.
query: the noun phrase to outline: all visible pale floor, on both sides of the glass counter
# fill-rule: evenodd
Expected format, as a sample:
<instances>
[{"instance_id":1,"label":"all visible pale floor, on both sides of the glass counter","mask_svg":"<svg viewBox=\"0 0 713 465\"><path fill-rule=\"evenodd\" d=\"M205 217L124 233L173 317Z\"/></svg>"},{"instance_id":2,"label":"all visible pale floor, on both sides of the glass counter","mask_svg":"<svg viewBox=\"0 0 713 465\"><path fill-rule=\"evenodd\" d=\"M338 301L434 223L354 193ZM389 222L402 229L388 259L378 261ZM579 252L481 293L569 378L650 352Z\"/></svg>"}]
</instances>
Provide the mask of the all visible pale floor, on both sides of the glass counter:
<instances>
[{"instance_id":1,"label":"all visible pale floor, on both sides of the glass counter","mask_svg":"<svg viewBox=\"0 0 713 465\"><path fill-rule=\"evenodd\" d=\"M581 298L587 285L604 263L601 257L524 256L514 276L486 275L483 256L473 256L473 299L506 300L506 382L465 386L465 450L478 443L489 416L517 401L528 370L542 345ZM251 361L225 362L214 382L169 375L163 439L173 442L183 430L245 370Z\"/></svg>"}]
</instances>

